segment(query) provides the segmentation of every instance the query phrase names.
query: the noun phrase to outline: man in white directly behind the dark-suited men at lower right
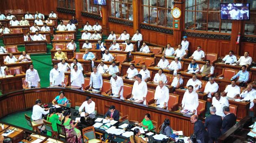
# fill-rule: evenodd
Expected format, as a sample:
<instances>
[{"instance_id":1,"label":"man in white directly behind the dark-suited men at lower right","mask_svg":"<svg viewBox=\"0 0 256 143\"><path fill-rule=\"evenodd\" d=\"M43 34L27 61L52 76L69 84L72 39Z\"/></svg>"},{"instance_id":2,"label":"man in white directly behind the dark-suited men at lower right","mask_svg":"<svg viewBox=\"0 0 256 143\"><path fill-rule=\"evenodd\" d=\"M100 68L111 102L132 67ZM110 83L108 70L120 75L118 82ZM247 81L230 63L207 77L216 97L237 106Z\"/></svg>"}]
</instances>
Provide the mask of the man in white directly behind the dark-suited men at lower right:
<instances>
[{"instance_id":1,"label":"man in white directly behind the dark-suited men at lower right","mask_svg":"<svg viewBox=\"0 0 256 143\"><path fill-rule=\"evenodd\" d=\"M223 107L229 106L228 99L219 95L219 93L215 93L212 101L212 105L216 108L216 115L224 117Z\"/></svg>"}]
</instances>

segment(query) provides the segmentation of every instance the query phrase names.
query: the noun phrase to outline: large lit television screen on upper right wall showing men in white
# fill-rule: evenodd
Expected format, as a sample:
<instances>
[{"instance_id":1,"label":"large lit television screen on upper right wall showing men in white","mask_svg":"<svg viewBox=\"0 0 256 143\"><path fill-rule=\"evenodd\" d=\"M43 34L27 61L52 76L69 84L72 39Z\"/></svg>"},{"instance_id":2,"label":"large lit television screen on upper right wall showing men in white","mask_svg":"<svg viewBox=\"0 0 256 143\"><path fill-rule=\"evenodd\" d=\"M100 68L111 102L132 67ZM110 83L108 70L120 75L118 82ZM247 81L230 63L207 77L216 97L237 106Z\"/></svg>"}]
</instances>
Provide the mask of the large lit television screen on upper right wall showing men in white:
<instances>
[{"instance_id":1,"label":"large lit television screen on upper right wall showing men in white","mask_svg":"<svg viewBox=\"0 0 256 143\"><path fill-rule=\"evenodd\" d=\"M249 20L249 3L221 3L221 19Z\"/></svg>"}]
</instances>

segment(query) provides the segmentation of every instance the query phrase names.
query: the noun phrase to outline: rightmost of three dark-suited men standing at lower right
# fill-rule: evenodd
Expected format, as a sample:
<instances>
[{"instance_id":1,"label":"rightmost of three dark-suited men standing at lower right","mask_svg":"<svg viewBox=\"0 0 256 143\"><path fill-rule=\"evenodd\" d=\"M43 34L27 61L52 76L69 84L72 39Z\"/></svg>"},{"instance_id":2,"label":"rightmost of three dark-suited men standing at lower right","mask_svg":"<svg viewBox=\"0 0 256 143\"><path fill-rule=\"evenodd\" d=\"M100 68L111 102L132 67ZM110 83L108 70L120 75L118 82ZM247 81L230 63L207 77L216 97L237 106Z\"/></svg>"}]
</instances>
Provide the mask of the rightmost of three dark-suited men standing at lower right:
<instances>
[{"instance_id":1,"label":"rightmost of three dark-suited men standing at lower right","mask_svg":"<svg viewBox=\"0 0 256 143\"><path fill-rule=\"evenodd\" d=\"M223 118L222 126L221 126L221 133L224 134L227 130L229 130L234 124L236 124L236 116L233 113L230 113L229 107L224 106L223 112L226 115Z\"/></svg>"}]
</instances>

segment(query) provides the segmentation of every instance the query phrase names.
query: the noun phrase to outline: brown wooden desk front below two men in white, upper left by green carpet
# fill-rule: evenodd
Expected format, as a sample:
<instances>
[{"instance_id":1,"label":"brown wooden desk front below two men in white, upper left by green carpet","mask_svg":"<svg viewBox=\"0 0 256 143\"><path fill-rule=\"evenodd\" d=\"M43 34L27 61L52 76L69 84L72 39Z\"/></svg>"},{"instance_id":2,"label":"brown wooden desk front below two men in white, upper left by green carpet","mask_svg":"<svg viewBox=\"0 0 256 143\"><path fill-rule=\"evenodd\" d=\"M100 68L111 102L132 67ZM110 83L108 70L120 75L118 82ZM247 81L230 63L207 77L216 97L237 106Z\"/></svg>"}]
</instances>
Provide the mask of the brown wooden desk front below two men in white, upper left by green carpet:
<instances>
[{"instance_id":1,"label":"brown wooden desk front below two men in white, upper left by green carpet","mask_svg":"<svg viewBox=\"0 0 256 143\"><path fill-rule=\"evenodd\" d=\"M25 41L27 53L46 53L46 40L42 41Z\"/></svg>"}]
</instances>

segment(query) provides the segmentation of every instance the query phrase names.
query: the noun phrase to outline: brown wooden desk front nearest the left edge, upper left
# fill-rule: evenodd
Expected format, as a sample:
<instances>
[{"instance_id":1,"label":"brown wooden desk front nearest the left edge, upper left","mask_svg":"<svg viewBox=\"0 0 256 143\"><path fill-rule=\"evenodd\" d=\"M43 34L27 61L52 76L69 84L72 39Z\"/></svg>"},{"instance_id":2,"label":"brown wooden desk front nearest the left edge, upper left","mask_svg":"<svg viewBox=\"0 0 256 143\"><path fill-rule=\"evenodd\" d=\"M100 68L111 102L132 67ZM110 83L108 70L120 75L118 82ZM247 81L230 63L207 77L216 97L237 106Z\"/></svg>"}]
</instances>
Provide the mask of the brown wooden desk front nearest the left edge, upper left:
<instances>
[{"instance_id":1,"label":"brown wooden desk front nearest the left edge, upper left","mask_svg":"<svg viewBox=\"0 0 256 143\"><path fill-rule=\"evenodd\" d=\"M2 34L4 45L22 45L24 44L23 33Z\"/></svg>"}]
</instances>

